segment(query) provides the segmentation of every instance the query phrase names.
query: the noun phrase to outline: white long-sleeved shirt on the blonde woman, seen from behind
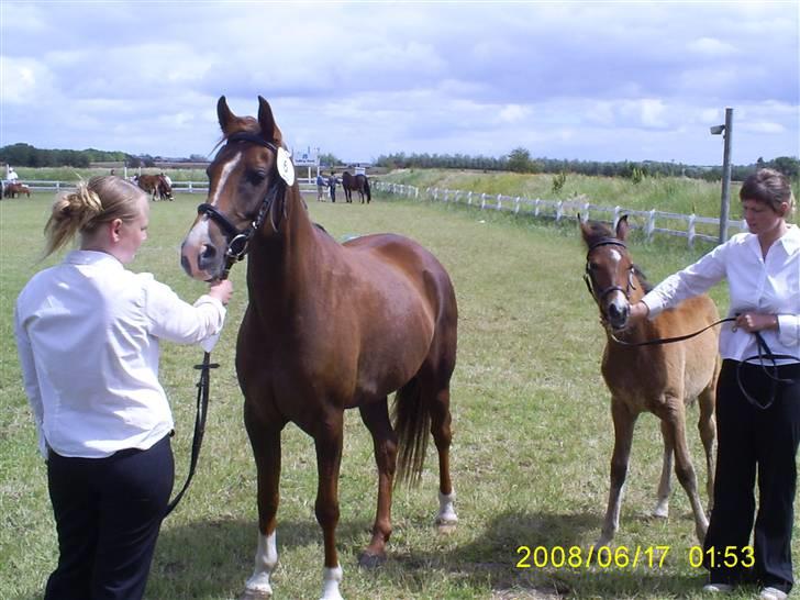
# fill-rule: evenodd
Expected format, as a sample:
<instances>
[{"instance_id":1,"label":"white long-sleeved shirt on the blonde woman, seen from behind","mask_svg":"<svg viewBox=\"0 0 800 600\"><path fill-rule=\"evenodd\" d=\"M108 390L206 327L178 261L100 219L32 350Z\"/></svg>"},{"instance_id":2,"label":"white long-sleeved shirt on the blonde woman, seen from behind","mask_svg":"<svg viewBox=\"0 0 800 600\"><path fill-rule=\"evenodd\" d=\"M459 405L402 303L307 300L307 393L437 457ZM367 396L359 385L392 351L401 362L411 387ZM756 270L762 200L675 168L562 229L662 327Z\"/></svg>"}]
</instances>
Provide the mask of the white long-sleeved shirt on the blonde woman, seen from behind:
<instances>
[{"instance_id":1,"label":"white long-sleeved shirt on the blonde woman, seen from behind","mask_svg":"<svg viewBox=\"0 0 800 600\"><path fill-rule=\"evenodd\" d=\"M71 252L34 275L16 300L14 333L42 454L49 445L101 458L163 438L174 425L158 341L202 342L224 318L219 300L189 304L102 252Z\"/></svg>"}]
</instances>

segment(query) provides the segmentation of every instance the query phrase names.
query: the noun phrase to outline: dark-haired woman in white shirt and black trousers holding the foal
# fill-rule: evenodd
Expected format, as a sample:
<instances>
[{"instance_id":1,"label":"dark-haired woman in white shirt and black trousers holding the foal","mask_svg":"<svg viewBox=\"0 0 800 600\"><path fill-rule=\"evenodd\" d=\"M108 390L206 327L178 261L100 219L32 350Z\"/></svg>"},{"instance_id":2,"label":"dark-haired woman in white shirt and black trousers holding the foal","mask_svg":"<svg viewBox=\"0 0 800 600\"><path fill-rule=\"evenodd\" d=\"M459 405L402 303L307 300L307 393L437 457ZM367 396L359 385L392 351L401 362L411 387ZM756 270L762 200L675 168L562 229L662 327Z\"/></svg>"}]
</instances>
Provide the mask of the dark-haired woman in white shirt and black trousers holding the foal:
<instances>
[{"instance_id":1,"label":"dark-haired woman in white shirt and black trousers holding the foal","mask_svg":"<svg viewBox=\"0 0 800 600\"><path fill-rule=\"evenodd\" d=\"M705 591L758 582L762 600L793 585L793 526L800 441L800 230L786 222L793 196L786 177L760 169L740 192L749 233L731 237L631 307L636 323L727 279L730 316L720 333L716 475L705 536ZM762 336L776 359L759 358ZM775 381L777 377L780 381ZM741 380L741 385L740 385ZM758 514L754 530L754 486ZM751 544L751 532L754 540Z\"/></svg>"}]
</instances>

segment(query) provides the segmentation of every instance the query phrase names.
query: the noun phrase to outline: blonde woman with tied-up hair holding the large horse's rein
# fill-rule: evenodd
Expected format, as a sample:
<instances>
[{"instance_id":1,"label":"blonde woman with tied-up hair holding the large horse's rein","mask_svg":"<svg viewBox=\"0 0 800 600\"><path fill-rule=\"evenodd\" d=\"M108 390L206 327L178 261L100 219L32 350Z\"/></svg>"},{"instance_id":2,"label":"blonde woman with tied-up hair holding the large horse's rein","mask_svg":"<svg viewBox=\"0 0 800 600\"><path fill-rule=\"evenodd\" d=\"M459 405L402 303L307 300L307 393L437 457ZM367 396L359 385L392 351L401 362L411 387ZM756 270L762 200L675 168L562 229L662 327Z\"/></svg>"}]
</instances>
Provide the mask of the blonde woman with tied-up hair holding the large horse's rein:
<instances>
[{"instance_id":1,"label":"blonde woman with tied-up hair holding the large horse's rein","mask_svg":"<svg viewBox=\"0 0 800 600\"><path fill-rule=\"evenodd\" d=\"M230 281L195 304L124 268L147 237L136 186L95 177L59 197L46 254L80 249L34 275L14 313L25 392L47 460L58 566L46 599L138 599L173 490L173 416L158 382L158 343L213 340Z\"/></svg>"}]
</instances>

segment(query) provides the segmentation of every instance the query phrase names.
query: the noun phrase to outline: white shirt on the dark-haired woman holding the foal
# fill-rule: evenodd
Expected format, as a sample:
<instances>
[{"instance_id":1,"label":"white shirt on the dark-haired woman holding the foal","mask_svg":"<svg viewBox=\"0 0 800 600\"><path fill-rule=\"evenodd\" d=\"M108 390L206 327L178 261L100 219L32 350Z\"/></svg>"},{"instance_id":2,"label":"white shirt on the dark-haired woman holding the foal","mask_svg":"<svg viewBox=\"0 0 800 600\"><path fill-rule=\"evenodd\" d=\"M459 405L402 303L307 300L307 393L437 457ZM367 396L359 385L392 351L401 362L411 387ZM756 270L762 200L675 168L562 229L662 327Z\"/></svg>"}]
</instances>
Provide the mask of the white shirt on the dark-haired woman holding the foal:
<instances>
[{"instance_id":1,"label":"white shirt on the dark-haired woman holding the foal","mask_svg":"<svg viewBox=\"0 0 800 600\"><path fill-rule=\"evenodd\" d=\"M778 331L762 331L774 354L800 359L800 229L789 230L762 255L758 237L740 233L716 246L693 265L667 277L642 301L649 319L681 300L708 291L723 278L730 287L729 316L742 312L778 315ZM744 360L758 354L755 336L734 323L720 332L722 358ZM789 360L784 360L789 362ZM780 360L779 360L780 363Z\"/></svg>"}]
</instances>

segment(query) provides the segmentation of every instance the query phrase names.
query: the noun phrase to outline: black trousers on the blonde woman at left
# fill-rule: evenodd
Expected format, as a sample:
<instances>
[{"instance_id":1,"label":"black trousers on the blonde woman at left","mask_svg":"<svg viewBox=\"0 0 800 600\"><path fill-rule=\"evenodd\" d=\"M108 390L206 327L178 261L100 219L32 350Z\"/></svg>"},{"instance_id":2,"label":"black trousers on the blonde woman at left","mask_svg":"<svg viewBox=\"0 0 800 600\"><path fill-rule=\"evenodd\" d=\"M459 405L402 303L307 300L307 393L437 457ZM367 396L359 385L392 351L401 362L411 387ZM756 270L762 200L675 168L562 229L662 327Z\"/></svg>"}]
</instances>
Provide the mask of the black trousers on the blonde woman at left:
<instances>
[{"instance_id":1,"label":"black trousers on the blonde woman at left","mask_svg":"<svg viewBox=\"0 0 800 600\"><path fill-rule=\"evenodd\" d=\"M144 596L175 480L169 436L108 458L49 453L47 481L58 567L45 600L138 600Z\"/></svg>"}]
</instances>

